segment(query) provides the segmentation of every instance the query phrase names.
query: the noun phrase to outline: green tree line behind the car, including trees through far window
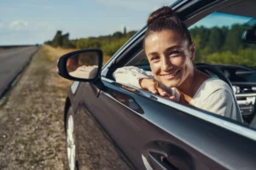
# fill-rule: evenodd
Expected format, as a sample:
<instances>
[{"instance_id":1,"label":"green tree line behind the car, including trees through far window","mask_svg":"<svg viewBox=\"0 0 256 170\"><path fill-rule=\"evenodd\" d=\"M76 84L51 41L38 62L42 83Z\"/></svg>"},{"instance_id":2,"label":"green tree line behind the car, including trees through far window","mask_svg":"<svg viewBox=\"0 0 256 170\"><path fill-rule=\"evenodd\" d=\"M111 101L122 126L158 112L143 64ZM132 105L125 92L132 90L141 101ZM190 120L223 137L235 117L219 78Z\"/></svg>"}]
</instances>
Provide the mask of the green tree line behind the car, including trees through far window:
<instances>
[{"instance_id":1,"label":"green tree line behind the car, including trees through far window","mask_svg":"<svg viewBox=\"0 0 256 170\"><path fill-rule=\"evenodd\" d=\"M223 27L204 26L189 29L192 40L195 42L195 62L212 64L233 64L256 66L255 44L241 40L245 25ZM112 35L100 37L86 37L69 40L69 34L61 35L57 31L55 37L46 44L62 48L101 48L107 56L112 56L136 31L116 31Z\"/></svg>"}]
</instances>

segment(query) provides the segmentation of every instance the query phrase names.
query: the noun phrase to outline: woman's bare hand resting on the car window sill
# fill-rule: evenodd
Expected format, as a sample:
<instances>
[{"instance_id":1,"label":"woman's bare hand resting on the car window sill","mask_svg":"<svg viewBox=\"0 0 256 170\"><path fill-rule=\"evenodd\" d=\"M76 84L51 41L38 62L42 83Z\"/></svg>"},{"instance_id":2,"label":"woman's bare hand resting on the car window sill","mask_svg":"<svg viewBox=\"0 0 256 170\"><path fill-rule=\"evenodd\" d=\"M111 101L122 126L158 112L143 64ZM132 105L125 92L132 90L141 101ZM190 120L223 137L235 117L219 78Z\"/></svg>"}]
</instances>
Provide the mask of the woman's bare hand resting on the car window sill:
<instances>
[{"instance_id":1,"label":"woman's bare hand resting on the car window sill","mask_svg":"<svg viewBox=\"0 0 256 170\"><path fill-rule=\"evenodd\" d=\"M168 99L175 99L174 96L168 94L164 88L161 88L159 82L151 78L142 78L139 80L140 86L151 92L152 94L160 94L160 96L167 97Z\"/></svg>"}]
</instances>

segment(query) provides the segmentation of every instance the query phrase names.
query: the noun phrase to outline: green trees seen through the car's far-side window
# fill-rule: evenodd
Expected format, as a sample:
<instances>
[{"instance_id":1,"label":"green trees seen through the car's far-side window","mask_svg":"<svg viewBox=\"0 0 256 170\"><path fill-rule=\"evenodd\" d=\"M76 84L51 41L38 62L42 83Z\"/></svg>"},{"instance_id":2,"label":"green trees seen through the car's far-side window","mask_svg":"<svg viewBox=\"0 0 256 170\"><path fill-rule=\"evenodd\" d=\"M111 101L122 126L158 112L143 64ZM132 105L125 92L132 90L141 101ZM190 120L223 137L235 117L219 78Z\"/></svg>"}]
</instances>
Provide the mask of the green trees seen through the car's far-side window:
<instances>
[{"instance_id":1,"label":"green trees seen through the car's far-side window","mask_svg":"<svg viewBox=\"0 0 256 170\"><path fill-rule=\"evenodd\" d=\"M189 30L195 42L195 62L232 65L256 65L256 45L243 42L241 35L246 25L206 28L194 27Z\"/></svg>"}]
</instances>

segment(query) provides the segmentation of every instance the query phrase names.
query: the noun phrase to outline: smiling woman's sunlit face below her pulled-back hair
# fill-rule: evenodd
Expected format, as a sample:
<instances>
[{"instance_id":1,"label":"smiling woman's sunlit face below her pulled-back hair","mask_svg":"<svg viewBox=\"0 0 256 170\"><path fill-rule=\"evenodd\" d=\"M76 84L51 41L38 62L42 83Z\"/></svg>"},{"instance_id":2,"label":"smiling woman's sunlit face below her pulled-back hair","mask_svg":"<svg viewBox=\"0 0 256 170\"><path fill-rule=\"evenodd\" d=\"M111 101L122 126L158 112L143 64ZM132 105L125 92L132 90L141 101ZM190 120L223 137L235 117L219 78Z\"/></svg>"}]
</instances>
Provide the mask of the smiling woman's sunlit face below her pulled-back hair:
<instances>
[{"instance_id":1,"label":"smiling woman's sunlit face below her pulled-back hair","mask_svg":"<svg viewBox=\"0 0 256 170\"><path fill-rule=\"evenodd\" d=\"M195 45L188 45L178 31L152 32L145 39L145 53L154 75L166 87L179 87L193 74Z\"/></svg>"}]
</instances>

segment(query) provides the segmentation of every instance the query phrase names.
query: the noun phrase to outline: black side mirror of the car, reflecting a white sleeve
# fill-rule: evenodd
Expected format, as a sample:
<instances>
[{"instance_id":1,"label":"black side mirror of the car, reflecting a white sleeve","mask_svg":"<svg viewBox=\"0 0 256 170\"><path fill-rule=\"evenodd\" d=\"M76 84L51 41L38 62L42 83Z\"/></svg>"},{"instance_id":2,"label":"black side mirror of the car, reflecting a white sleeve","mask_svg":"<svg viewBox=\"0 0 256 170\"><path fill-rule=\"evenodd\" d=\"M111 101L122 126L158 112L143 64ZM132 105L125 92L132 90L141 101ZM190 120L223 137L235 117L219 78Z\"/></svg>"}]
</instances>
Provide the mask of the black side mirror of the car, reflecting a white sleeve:
<instances>
[{"instance_id":1,"label":"black side mirror of the car, reflecting a white sleeve","mask_svg":"<svg viewBox=\"0 0 256 170\"><path fill-rule=\"evenodd\" d=\"M82 49L61 56L57 72L61 77L79 82L95 82L101 77L102 50Z\"/></svg>"}]
</instances>

